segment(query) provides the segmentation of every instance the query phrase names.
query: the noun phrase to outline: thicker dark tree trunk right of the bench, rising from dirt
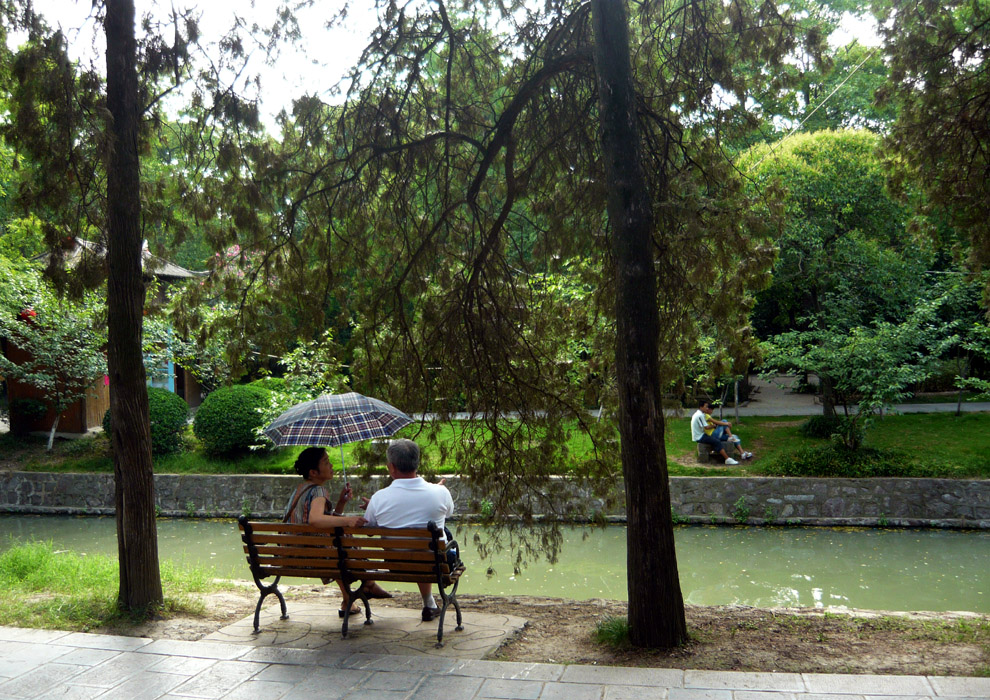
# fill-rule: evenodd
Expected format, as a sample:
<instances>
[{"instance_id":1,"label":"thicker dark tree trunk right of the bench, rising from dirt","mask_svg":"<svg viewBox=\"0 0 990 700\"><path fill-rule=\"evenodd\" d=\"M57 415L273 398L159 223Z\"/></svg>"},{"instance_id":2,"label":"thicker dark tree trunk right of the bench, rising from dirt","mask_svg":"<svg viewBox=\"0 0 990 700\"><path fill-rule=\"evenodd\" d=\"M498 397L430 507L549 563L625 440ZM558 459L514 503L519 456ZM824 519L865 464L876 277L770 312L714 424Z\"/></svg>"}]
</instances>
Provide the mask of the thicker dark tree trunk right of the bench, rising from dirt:
<instances>
[{"instance_id":1,"label":"thicker dark tree trunk right of the bench, rising from dirt","mask_svg":"<svg viewBox=\"0 0 990 700\"><path fill-rule=\"evenodd\" d=\"M592 0L595 70L616 279L619 434L626 484L629 638L636 646L687 640L663 444L653 216L640 154L623 0Z\"/></svg>"}]
</instances>

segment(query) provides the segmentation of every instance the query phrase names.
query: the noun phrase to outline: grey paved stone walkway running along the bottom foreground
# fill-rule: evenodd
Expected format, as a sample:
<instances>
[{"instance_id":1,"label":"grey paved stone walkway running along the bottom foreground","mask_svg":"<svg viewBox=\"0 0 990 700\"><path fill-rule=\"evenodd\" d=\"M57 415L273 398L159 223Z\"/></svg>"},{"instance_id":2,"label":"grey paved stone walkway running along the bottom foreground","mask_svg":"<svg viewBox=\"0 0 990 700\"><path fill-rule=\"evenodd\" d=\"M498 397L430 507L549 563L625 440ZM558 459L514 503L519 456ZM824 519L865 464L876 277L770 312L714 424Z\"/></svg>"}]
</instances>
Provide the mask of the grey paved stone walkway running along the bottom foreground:
<instances>
[{"instance_id":1,"label":"grey paved stone walkway running along the bottom foreground","mask_svg":"<svg viewBox=\"0 0 990 700\"><path fill-rule=\"evenodd\" d=\"M974 700L990 698L990 678L562 666L0 627L0 698Z\"/></svg>"}]
</instances>

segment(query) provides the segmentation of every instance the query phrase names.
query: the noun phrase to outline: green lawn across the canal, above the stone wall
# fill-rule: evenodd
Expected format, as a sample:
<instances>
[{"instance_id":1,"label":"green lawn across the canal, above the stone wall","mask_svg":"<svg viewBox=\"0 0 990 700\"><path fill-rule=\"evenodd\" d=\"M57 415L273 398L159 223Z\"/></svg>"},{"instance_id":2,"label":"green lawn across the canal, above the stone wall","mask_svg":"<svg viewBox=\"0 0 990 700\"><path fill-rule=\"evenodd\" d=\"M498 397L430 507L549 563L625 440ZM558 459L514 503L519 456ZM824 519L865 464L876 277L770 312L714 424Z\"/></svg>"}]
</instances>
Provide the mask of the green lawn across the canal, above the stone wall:
<instances>
[{"instance_id":1,"label":"green lawn across the canal, above the stone wall","mask_svg":"<svg viewBox=\"0 0 990 700\"><path fill-rule=\"evenodd\" d=\"M731 411L726 413L731 420ZM667 466L672 476L745 476L767 473L774 458L808 446L826 447L827 440L807 438L800 434L801 417L744 417L734 424L734 432L742 438L744 447L753 452L752 460L735 467L699 465L697 447L691 441L690 418L670 418L665 442ZM400 435L420 442L424 451L424 471L457 473L452 461L440 462L441 442L475 439L483 441L486 433L478 424L467 422L435 426L435 431L420 430L411 425ZM435 432L435 435L431 435ZM197 448L194 438L191 448L180 455L159 457L155 471L187 474L292 474L292 464L302 448L286 448L272 452L251 452L236 458L216 458ZM924 413L889 415L877 418L866 434L865 446L889 451L888 461L924 463L937 476L990 478L990 413ZM369 463L369 443L344 446L344 459L349 473L384 474L384 466L359 466ZM590 438L573 431L567 442L570 464L562 463L568 471L593 451ZM340 449L329 450L335 468L339 468ZM102 436L81 440L57 441L51 453L44 449L43 438L14 438L0 435L0 464L7 468L28 471L110 472L113 465L107 454L107 441Z\"/></svg>"}]
</instances>

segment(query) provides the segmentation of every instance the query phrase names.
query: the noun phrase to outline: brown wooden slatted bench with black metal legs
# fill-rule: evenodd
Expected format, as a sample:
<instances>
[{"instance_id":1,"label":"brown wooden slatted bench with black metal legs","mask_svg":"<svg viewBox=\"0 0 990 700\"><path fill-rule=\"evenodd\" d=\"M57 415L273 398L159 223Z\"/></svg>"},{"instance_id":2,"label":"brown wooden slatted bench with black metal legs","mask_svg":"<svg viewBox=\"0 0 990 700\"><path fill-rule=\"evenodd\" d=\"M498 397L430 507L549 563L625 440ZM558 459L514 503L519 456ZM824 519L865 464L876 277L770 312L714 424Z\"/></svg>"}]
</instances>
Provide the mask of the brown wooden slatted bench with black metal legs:
<instances>
[{"instance_id":1,"label":"brown wooden slatted bench with black metal legs","mask_svg":"<svg viewBox=\"0 0 990 700\"><path fill-rule=\"evenodd\" d=\"M443 529L433 522L425 528L338 527L333 530L252 521L243 515L237 522L251 575L261 592L254 610L255 634L261 631L258 627L261 605L272 593L282 606L282 619L289 616L285 598L278 590L278 582L283 576L341 581L351 601L359 598L364 603L366 625L372 624L372 620L368 597L360 590L364 581L435 583L442 601L437 648L443 646L443 621L449 605L453 604L457 613L456 629L464 629L457 602L457 585L464 564L457 556L457 543L440 539L444 535ZM452 564L448 563L448 558ZM272 577L271 583L264 583ZM351 617L349 607L341 627L344 637Z\"/></svg>"}]
</instances>

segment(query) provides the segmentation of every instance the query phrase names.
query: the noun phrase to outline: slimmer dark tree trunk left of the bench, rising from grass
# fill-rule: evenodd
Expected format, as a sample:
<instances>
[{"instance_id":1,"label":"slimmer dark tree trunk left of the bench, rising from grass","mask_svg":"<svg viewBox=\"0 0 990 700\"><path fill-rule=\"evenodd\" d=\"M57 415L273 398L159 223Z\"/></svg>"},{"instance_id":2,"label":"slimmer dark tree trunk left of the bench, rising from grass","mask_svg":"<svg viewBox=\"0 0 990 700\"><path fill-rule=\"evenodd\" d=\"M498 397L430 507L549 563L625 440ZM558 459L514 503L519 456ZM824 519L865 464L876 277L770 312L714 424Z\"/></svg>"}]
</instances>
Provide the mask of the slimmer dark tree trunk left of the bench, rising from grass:
<instances>
[{"instance_id":1,"label":"slimmer dark tree trunk left of the bench, rising from grass","mask_svg":"<svg viewBox=\"0 0 990 700\"><path fill-rule=\"evenodd\" d=\"M133 0L107 0L107 366L113 423L118 602L133 611L162 603L155 526L148 390L141 354L144 280L138 167L137 43Z\"/></svg>"}]
</instances>

